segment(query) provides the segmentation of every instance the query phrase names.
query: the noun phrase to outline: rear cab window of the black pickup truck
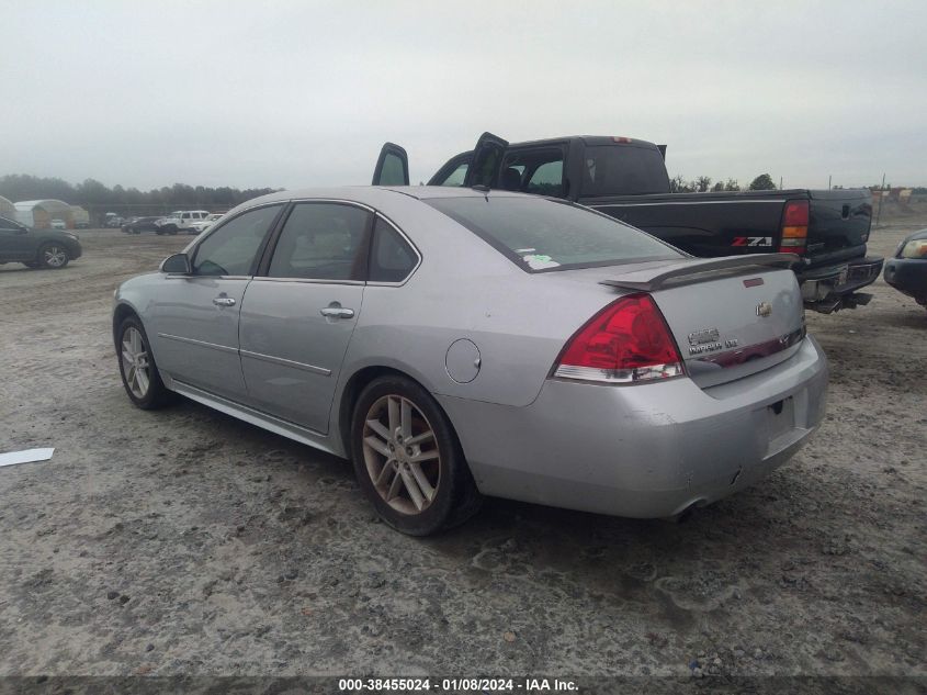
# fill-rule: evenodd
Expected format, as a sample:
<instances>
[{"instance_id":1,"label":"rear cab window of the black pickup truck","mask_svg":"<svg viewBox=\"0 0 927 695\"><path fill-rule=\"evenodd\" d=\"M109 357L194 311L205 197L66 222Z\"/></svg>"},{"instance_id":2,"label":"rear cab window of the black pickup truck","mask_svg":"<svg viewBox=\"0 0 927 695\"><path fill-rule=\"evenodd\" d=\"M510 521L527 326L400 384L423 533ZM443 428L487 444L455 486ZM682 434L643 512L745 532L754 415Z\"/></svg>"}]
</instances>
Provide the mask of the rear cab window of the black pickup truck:
<instances>
[{"instance_id":1,"label":"rear cab window of the black pickup truck","mask_svg":"<svg viewBox=\"0 0 927 695\"><path fill-rule=\"evenodd\" d=\"M668 193L669 179L658 149L634 145L587 147L581 195Z\"/></svg>"}]
</instances>

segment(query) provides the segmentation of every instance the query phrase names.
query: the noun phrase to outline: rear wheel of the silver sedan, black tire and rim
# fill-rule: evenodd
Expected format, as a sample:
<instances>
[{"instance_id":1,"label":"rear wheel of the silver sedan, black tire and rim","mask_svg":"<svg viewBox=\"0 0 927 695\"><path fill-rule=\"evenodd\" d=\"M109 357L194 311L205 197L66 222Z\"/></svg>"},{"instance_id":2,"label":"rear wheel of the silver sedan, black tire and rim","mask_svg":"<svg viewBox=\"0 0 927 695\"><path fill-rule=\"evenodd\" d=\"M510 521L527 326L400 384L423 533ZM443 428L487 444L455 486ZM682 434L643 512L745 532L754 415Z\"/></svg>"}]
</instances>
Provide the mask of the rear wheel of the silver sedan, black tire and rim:
<instances>
[{"instance_id":1,"label":"rear wheel of the silver sedan, black tire and rim","mask_svg":"<svg viewBox=\"0 0 927 695\"><path fill-rule=\"evenodd\" d=\"M351 421L354 473L381 518L410 536L462 524L482 497L441 407L404 377L372 381Z\"/></svg>"}]
</instances>

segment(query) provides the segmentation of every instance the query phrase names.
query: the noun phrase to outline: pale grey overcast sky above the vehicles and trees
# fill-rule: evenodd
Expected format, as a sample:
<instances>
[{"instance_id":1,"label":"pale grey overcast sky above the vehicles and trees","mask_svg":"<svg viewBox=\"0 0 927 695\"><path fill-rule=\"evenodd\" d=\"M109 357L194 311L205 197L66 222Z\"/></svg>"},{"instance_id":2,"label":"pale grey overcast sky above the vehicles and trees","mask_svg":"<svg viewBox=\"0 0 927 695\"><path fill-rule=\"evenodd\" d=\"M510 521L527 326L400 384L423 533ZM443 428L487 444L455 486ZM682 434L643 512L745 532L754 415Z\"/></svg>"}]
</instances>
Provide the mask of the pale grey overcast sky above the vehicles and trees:
<instances>
[{"instance_id":1,"label":"pale grey overcast sky above the vehicles and trees","mask_svg":"<svg viewBox=\"0 0 927 695\"><path fill-rule=\"evenodd\" d=\"M628 135L670 175L927 184L927 2L0 0L0 175L427 180L483 131Z\"/></svg>"}]
</instances>

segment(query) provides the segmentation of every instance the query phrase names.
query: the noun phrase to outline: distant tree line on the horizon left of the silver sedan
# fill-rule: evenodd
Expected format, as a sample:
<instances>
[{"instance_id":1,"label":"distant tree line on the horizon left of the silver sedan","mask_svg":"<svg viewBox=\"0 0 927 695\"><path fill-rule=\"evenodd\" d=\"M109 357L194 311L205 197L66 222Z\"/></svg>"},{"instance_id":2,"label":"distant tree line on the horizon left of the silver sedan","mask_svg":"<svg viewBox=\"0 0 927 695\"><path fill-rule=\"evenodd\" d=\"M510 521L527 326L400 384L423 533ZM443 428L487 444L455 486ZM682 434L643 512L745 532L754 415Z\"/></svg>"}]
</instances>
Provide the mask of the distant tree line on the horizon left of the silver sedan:
<instances>
[{"instance_id":1,"label":"distant tree line on the horizon left of the silver sedan","mask_svg":"<svg viewBox=\"0 0 927 695\"><path fill-rule=\"evenodd\" d=\"M110 188L95 179L71 184L59 178L43 178L25 173L10 173L0 177L0 195L18 202L21 200L56 199L71 205L80 205L91 212L112 209L117 213L169 212L170 210L225 211L250 200L273 193L279 189L249 188L240 190L223 186L188 186L174 183L142 191L137 188Z\"/></svg>"}]
</instances>

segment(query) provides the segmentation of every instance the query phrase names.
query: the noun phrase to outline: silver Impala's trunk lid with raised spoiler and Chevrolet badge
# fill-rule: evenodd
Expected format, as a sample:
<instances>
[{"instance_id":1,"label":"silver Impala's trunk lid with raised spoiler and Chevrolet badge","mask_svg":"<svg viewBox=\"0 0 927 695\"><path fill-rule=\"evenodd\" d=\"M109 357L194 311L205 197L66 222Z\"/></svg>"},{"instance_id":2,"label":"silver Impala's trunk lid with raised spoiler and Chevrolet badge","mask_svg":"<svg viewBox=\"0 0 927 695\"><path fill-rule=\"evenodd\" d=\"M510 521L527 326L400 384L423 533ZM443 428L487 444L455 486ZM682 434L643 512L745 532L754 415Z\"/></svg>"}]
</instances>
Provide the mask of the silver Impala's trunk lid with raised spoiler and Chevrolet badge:
<instances>
[{"instance_id":1,"label":"silver Impala's trunk lid with raised spoiler and Chevrolet badge","mask_svg":"<svg viewBox=\"0 0 927 695\"><path fill-rule=\"evenodd\" d=\"M614 268L602 284L651 293L689 377L725 383L791 357L804 338L802 296L791 254L685 260Z\"/></svg>"}]
</instances>

